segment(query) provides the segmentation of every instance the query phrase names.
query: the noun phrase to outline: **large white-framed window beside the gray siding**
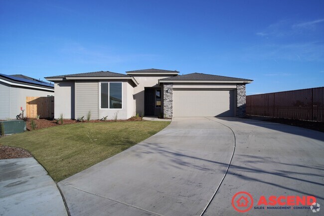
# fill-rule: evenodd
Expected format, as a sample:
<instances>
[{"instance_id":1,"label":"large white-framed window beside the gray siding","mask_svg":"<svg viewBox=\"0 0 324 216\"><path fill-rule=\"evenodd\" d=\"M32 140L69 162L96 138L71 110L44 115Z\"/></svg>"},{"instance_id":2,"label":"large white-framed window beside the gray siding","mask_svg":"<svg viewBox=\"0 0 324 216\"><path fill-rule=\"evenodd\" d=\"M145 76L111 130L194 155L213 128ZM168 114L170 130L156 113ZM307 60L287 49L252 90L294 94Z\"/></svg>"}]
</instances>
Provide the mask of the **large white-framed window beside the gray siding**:
<instances>
[{"instance_id":1,"label":"large white-framed window beside the gray siding","mask_svg":"<svg viewBox=\"0 0 324 216\"><path fill-rule=\"evenodd\" d=\"M100 82L100 109L123 109L122 82Z\"/></svg>"}]
</instances>

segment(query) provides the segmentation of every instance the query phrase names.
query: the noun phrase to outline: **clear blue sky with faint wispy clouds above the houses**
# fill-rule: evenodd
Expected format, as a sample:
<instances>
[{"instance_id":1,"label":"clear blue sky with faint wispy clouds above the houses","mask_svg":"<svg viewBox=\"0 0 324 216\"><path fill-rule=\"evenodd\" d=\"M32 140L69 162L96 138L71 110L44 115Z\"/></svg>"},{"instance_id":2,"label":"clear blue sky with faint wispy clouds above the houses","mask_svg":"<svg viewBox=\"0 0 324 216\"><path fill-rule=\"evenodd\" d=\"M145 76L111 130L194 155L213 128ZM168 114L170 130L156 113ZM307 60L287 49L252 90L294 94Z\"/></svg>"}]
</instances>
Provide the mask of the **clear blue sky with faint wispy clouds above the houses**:
<instances>
[{"instance_id":1,"label":"clear blue sky with faint wispy clouds above the houses","mask_svg":"<svg viewBox=\"0 0 324 216\"><path fill-rule=\"evenodd\" d=\"M146 68L324 86L324 1L0 0L0 73Z\"/></svg>"}]
</instances>

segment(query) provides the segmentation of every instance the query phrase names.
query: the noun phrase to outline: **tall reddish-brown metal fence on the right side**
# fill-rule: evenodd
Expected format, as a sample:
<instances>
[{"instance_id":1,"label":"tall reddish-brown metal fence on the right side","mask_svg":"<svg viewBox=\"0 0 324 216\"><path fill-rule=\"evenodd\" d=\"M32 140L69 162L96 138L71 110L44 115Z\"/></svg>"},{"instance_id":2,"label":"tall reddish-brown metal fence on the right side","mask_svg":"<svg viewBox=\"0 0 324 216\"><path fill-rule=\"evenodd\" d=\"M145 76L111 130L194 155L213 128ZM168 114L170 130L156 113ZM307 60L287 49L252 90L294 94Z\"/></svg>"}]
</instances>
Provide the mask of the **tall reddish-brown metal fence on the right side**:
<instances>
[{"instance_id":1,"label":"tall reddish-brown metal fence on the right side","mask_svg":"<svg viewBox=\"0 0 324 216\"><path fill-rule=\"evenodd\" d=\"M324 122L324 87L248 95L246 114Z\"/></svg>"}]
</instances>

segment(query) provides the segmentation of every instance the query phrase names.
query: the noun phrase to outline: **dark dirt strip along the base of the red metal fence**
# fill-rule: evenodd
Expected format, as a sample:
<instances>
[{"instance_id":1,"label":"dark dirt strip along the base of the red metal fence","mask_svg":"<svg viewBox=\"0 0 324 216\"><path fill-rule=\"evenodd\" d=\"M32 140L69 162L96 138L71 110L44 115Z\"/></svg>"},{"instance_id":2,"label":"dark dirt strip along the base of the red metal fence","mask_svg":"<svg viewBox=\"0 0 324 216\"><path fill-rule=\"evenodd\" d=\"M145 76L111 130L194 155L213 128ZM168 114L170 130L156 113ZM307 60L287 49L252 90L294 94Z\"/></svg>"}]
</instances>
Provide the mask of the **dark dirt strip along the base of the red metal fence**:
<instances>
[{"instance_id":1,"label":"dark dirt strip along the base of the red metal fence","mask_svg":"<svg viewBox=\"0 0 324 216\"><path fill-rule=\"evenodd\" d=\"M246 118L280 123L285 125L292 125L296 127L307 128L315 131L324 132L324 122L311 122L311 121L303 121L303 120L295 120L295 119L281 119L281 118L270 118L270 117L261 117L261 116L247 116Z\"/></svg>"}]
</instances>

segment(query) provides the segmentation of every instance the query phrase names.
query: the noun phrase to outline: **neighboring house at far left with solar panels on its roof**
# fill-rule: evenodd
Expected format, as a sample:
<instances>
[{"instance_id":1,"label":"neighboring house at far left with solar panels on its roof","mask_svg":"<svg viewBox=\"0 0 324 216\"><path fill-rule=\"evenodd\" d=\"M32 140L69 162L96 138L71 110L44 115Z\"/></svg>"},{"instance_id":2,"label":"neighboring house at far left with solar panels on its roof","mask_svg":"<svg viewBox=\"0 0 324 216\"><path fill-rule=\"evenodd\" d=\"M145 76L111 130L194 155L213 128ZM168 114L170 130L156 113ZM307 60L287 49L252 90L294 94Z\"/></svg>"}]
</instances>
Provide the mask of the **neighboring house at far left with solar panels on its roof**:
<instances>
[{"instance_id":1,"label":"neighboring house at far left with solar panels on its roof","mask_svg":"<svg viewBox=\"0 0 324 216\"><path fill-rule=\"evenodd\" d=\"M54 85L21 74L0 74L0 119L15 119L26 110L26 97L54 95Z\"/></svg>"}]
</instances>

